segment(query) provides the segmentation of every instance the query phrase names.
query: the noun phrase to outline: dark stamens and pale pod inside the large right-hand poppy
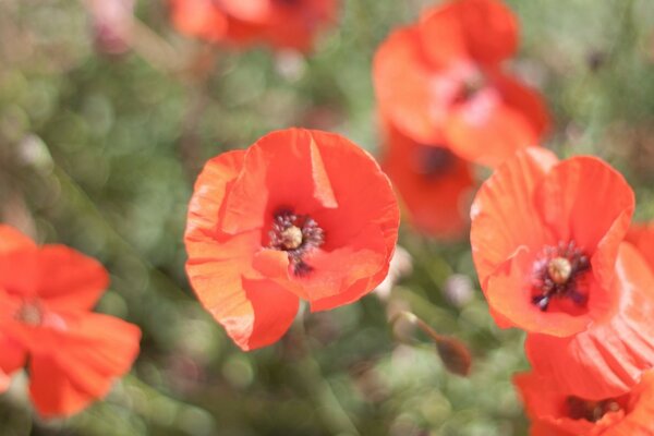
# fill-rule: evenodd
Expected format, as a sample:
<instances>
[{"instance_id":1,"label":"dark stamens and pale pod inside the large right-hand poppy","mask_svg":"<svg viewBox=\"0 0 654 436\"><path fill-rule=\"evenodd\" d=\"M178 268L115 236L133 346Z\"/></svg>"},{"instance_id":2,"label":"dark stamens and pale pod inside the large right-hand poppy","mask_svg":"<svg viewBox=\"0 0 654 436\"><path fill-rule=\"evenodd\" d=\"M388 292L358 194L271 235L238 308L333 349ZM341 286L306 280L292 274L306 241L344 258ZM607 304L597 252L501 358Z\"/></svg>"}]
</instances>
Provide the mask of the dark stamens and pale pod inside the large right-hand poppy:
<instances>
[{"instance_id":1,"label":"dark stamens and pale pod inside the large right-hand poppy","mask_svg":"<svg viewBox=\"0 0 654 436\"><path fill-rule=\"evenodd\" d=\"M553 298L569 298L578 305L586 303L588 295L578 288L579 277L591 269L589 257L574 241L547 246L534 265L533 286L537 294L532 303L547 311Z\"/></svg>"}]
</instances>

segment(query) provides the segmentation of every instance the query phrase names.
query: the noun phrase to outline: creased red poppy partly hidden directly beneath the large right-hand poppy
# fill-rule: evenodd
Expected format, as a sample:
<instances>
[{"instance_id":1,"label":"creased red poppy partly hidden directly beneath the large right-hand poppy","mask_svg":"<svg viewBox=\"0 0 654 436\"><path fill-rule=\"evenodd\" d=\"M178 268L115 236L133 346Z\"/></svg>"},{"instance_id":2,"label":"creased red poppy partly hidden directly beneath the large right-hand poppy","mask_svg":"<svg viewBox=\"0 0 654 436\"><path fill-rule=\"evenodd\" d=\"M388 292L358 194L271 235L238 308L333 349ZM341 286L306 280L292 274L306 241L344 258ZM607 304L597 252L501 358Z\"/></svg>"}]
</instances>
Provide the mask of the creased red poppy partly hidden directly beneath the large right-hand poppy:
<instances>
[{"instance_id":1,"label":"creased red poppy partly hidden directly beneath the large right-hand poppy","mask_svg":"<svg viewBox=\"0 0 654 436\"><path fill-rule=\"evenodd\" d=\"M528 335L526 356L553 388L591 400L617 397L654 367L654 274L627 242L615 270L619 301L611 317L567 338Z\"/></svg>"}]
</instances>

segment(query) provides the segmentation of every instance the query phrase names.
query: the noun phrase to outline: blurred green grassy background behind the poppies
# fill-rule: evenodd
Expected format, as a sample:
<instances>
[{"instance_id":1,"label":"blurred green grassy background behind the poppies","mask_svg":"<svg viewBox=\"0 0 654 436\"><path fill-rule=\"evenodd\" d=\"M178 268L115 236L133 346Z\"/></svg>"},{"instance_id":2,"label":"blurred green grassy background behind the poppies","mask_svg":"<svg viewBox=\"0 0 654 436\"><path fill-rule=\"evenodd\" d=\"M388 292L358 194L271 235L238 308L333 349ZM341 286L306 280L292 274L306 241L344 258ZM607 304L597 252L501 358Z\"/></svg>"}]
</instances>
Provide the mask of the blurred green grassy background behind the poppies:
<instances>
[{"instance_id":1,"label":"blurred green grassy background behind the poppies","mask_svg":"<svg viewBox=\"0 0 654 436\"><path fill-rule=\"evenodd\" d=\"M305 310L278 344L252 353L203 312L184 276L203 162L291 125L376 153L372 57L432 3L344 0L339 25L302 57L208 48L178 35L155 0L136 1L131 48L111 55L94 38L89 2L0 0L0 218L100 259L112 284L98 311L144 330L131 375L70 420L35 416L16 377L0 396L0 434L525 435L510 382L526 368L523 338L493 324L465 241L402 228L413 274L389 298ZM607 159L634 186L637 217L654 218L654 3L508 3L523 35L508 66L548 100L546 145ZM398 310L464 341L471 376L447 373L427 336L393 329Z\"/></svg>"}]
</instances>

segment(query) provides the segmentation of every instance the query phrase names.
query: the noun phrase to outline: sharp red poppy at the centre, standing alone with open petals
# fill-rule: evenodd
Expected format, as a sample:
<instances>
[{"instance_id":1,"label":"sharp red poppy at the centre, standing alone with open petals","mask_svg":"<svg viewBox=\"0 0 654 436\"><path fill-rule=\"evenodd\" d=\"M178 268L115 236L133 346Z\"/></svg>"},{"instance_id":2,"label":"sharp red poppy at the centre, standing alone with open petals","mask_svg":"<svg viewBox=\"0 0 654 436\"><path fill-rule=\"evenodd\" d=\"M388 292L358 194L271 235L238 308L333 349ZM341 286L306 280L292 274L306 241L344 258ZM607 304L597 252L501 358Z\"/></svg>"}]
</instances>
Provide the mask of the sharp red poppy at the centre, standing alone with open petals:
<instances>
[{"instance_id":1,"label":"sharp red poppy at the centre, standing alone with open petals","mask_svg":"<svg viewBox=\"0 0 654 436\"><path fill-rule=\"evenodd\" d=\"M189 208L186 271L243 350L277 341L299 301L351 303L386 277L399 209L375 160L330 133L272 132L207 162Z\"/></svg>"}]
</instances>

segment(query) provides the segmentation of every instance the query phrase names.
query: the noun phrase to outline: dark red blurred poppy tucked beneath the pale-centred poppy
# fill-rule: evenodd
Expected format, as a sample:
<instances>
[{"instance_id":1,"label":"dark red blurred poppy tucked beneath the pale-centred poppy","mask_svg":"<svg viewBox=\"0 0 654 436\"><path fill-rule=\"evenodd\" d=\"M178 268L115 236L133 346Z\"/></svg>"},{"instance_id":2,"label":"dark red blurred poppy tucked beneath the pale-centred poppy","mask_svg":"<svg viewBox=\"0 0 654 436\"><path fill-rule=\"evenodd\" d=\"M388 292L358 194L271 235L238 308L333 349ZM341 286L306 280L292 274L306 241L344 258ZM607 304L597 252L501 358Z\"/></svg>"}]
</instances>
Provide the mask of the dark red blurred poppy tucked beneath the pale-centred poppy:
<instances>
[{"instance_id":1,"label":"dark red blurred poppy tucked beneath the pale-centred poppy","mask_svg":"<svg viewBox=\"0 0 654 436\"><path fill-rule=\"evenodd\" d=\"M384 122L382 168L392 181L411 225L445 240L462 237L469 226L474 187L471 165L441 144L420 144Z\"/></svg>"}]
</instances>

